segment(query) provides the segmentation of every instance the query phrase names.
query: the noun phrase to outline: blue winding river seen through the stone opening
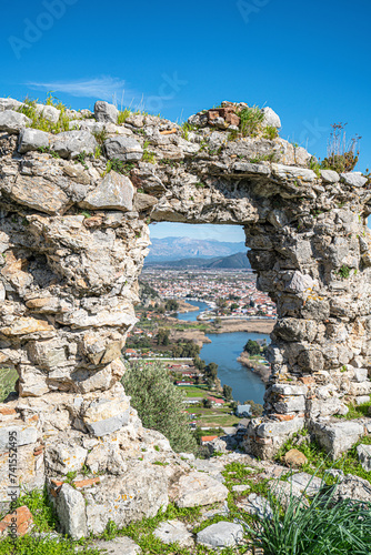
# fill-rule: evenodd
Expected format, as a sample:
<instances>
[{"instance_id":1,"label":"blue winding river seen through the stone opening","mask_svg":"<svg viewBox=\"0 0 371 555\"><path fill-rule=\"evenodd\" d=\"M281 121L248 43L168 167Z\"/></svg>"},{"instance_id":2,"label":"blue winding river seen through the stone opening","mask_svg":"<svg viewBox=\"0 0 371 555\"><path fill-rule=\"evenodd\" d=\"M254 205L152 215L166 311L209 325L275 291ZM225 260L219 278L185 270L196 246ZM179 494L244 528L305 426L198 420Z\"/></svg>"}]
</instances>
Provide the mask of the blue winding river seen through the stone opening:
<instances>
[{"instance_id":1,"label":"blue winding river seen through the stone opening","mask_svg":"<svg viewBox=\"0 0 371 555\"><path fill-rule=\"evenodd\" d=\"M193 306L198 306L200 310L178 314L179 320L193 322L201 312L208 310L208 305L203 302L187 302ZM227 384L232 387L234 401L243 403L251 398L255 403L262 404L265 392L263 382L251 370L240 364L237 359L242 353L248 340L265 339L270 343L269 335L263 333L233 332L210 333L208 337L212 343L205 343L202 346L200 357L207 364L214 362L219 365L218 377L222 385Z\"/></svg>"}]
</instances>

